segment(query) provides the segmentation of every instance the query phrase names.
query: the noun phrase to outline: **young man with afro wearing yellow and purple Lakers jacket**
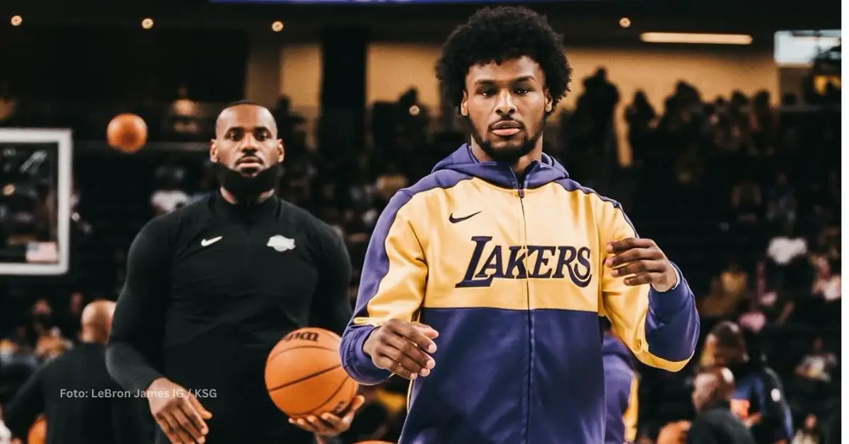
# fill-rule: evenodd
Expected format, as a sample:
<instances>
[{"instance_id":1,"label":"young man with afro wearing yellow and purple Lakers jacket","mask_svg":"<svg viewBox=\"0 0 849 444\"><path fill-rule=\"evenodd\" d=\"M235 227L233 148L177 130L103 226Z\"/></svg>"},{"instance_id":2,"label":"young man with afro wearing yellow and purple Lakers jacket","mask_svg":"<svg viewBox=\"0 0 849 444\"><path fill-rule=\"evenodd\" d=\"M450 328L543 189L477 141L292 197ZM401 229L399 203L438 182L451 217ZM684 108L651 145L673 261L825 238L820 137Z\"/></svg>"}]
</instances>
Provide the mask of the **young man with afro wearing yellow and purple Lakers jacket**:
<instances>
[{"instance_id":1,"label":"young man with afro wearing yellow and purple Lakers jacket","mask_svg":"<svg viewBox=\"0 0 849 444\"><path fill-rule=\"evenodd\" d=\"M413 379L402 444L603 442L599 316L643 363L692 357L681 273L542 152L570 74L525 8L482 9L443 48L437 76L472 141L385 208L341 345L363 384Z\"/></svg>"}]
</instances>

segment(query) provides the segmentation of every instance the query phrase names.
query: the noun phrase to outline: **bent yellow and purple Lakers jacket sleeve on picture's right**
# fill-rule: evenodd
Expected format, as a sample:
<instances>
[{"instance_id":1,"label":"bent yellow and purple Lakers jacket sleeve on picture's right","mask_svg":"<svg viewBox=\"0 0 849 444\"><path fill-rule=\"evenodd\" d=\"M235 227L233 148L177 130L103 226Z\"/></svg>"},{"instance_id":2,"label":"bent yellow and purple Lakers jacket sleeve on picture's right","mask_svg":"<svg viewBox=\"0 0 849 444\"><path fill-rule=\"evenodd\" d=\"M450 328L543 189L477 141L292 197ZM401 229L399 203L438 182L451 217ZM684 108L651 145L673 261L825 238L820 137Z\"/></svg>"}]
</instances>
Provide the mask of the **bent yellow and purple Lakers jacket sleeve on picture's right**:
<instances>
[{"instance_id":1,"label":"bent yellow and purple Lakers jacket sleeve on picture's right","mask_svg":"<svg viewBox=\"0 0 849 444\"><path fill-rule=\"evenodd\" d=\"M638 237L618 203L599 202L600 244ZM627 286L614 278L601 258L601 312L637 359L651 367L677 372L693 357L700 321L695 298L683 273L675 267L678 283L665 292L649 284Z\"/></svg>"}]
</instances>

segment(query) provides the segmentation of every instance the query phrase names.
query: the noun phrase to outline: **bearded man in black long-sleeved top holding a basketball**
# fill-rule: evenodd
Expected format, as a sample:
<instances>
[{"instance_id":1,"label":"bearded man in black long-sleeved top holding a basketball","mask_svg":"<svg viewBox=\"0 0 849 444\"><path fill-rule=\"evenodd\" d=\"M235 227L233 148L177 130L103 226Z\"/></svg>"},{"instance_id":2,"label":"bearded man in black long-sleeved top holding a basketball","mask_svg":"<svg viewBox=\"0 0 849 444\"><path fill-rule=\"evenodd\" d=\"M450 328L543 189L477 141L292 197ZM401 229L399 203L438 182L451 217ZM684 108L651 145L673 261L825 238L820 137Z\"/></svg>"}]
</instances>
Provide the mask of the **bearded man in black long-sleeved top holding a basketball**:
<instances>
[{"instance_id":1,"label":"bearded man in black long-sleeved top holding a basketball","mask_svg":"<svg viewBox=\"0 0 849 444\"><path fill-rule=\"evenodd\" d=\"M290 422L266 391L280 339L306 326L341 334L351 319L345 244L275 195L283 157L269 110L228 106L210 146L221 188L132 242L106 357L148 398L157 443L312 443L347 430L363 405Z\"/></svg>"}]
</instances>

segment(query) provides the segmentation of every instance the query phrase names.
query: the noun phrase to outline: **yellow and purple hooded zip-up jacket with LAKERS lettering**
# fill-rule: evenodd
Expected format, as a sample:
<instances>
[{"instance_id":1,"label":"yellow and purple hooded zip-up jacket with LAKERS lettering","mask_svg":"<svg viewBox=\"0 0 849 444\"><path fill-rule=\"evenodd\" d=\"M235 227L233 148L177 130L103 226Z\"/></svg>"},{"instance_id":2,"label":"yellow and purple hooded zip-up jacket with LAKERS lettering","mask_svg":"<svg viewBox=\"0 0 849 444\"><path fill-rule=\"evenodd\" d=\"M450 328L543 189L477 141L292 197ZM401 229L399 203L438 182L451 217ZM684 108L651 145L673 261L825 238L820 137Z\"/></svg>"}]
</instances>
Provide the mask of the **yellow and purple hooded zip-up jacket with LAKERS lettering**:
<instances>
[{"instance_id":1,"label":"yellow and purple hooded zip-up jacket with LAKERS lettering","mask_svg":"<svg viewBox=\"0 0 849 444\"><path fill-rule=\"evenodd\" d=\"M363 352L396 318L439 332L415 379L401 444L599 444L605 402L599 316L643 363L678 371L699 337L677 269L666 293L603 267L607 242L636 237L621 206L548 155L517 177L467 145L399 191L368 244L341 358L352 378L390 372Z\"/></svg>"}]
</instances>

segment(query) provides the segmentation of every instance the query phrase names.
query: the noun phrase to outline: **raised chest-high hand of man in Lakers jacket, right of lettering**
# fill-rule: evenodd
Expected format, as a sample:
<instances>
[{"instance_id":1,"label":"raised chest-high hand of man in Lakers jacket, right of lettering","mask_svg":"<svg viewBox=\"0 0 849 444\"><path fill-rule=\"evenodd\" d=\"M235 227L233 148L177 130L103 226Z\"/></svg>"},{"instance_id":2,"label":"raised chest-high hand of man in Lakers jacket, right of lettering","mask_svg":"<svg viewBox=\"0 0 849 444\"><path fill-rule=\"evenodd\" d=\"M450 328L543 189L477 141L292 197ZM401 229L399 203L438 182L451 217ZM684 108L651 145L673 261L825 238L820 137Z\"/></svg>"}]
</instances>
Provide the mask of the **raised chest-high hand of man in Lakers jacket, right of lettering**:
<instances>
[{"instance_id":1,"label":"raised chest-high hand of man in Lakers jacket, right of lettering","mask_svg":"<svg viewBox=\"0 0 849 444\"><path fill-rule=\"evenodd\" d=\"M678 284L678 273L666 259L654 240L628 238L609 242L605 247L613 256L604 261L606 267L613 268L610 275L625 278L626 285L651 284L655 291L669 291Z\"/></svg>"}]
</instances>

